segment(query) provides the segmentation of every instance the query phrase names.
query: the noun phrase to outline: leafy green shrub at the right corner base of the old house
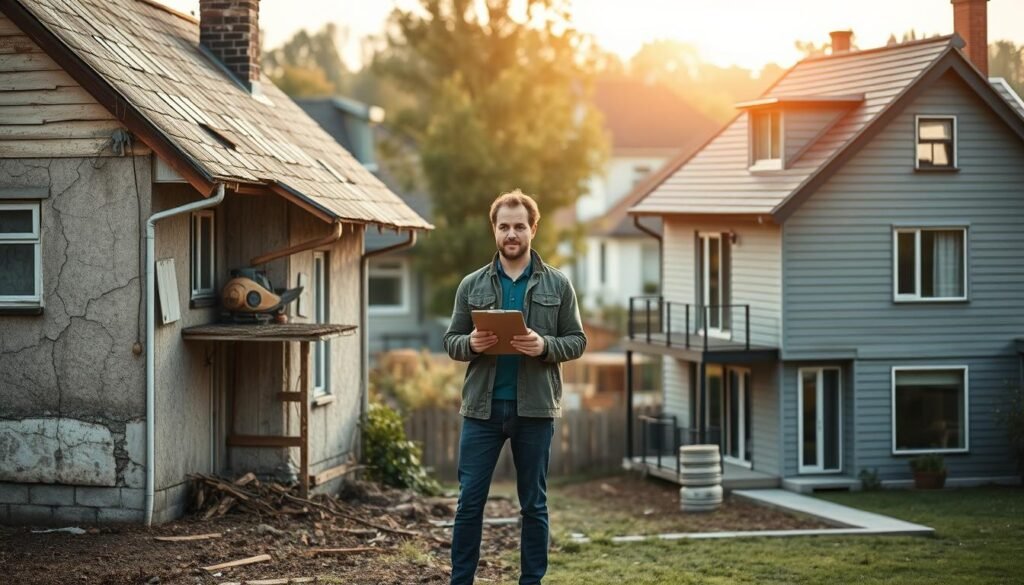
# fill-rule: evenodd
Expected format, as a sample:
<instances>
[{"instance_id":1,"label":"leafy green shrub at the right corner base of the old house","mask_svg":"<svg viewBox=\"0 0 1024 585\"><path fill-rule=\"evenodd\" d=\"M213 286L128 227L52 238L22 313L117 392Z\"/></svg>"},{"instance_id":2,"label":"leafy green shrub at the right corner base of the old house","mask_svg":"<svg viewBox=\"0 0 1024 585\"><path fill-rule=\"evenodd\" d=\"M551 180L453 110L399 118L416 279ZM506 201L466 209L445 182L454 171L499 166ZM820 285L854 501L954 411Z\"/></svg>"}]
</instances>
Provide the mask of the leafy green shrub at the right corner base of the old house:
<instances>
[{"instance_id":1,"label":"leafy green shrub at the right corner base of the old house","mask_svg":"<svg viewBox=\"0 0 1024 585\"><path fill-rule=\"evenodd\" d=\"M440 485L423 468L420 447L406 436L401 416L386 405L370 405L362 453L371 479L431 496L441 493Z\"/></svg>"}]
</instances>

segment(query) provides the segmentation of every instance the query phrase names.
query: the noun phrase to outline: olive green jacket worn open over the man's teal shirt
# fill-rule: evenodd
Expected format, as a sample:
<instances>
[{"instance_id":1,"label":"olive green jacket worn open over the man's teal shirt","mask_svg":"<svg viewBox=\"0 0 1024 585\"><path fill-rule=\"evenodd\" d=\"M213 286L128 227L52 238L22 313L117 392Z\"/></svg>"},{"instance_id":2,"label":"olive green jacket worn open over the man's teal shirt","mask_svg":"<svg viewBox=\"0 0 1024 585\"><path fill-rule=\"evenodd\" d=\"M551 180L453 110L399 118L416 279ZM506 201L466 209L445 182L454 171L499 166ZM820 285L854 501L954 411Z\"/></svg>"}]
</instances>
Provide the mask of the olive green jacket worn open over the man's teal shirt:
<instances>
[{"instance_id":1,"label":"olive green jacket worn open over the man's teal shirt","mask_svg":"<svg viewBox=\"0 0 1024 585\"><path fill-rule=\"evenodd\" d=\"M523 317L526 327L544 337L542 357L523 356L519 364L517 412L519 416L562 416L562 362L575 360L587 348L572 284L562 273L544 263L530 251L532 271L526 283ZM469 362L462 387L463 416L490 418L497 357L474 353L469 348L473 331L470 311L502 306L502 286L495 267L498 255L487 265L462 280L455 296L452 325L444 333L444 350L453 360Z\"/></svg>"}]
</instances>

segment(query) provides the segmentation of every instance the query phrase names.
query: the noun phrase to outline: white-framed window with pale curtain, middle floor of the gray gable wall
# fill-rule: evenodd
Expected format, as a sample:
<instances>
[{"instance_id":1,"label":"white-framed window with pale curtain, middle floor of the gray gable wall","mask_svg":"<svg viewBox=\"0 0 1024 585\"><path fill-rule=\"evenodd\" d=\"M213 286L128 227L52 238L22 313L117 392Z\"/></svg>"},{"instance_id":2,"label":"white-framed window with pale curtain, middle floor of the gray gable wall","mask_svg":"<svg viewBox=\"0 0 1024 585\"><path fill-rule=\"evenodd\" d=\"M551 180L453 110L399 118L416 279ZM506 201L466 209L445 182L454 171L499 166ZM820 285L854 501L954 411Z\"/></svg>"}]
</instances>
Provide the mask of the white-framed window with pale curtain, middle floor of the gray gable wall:
<instances>
[{"instance_id":1,"label":"white-framed window with pale curtain, middle floor of the gray gable wall","mask_svg":"<svg viewBox=\"0 0 1024 585\"><path fill-rule=\"evenodd\" d=\"M899 228L895 239L895 300L967 299L967 228Z\"/></svg>"}]
</instances>

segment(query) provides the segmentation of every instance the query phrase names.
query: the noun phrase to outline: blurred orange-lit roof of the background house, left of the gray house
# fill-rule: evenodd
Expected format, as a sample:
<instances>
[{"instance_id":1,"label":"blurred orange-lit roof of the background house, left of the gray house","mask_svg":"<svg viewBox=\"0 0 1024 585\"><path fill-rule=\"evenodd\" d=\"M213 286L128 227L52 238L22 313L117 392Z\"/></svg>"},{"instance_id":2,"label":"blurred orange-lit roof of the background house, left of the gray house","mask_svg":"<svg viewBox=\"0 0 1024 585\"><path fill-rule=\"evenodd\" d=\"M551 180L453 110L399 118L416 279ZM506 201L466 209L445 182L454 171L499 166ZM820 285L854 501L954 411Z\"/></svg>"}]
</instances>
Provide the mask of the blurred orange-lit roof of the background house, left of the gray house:
<instances>
[{"instance_id":1,"label":"blurred orange-lit roof of the background house, left of the gray house","mask_svg":"<svg viewBox=\"0 0 1024 585\"><path fill-rule=\"evenodd\" d=\"M718 128L717 123L662 84L601 79L594 85L594 105L604 115L615 150L692 148Z\"/></svg>"}]
</instances>

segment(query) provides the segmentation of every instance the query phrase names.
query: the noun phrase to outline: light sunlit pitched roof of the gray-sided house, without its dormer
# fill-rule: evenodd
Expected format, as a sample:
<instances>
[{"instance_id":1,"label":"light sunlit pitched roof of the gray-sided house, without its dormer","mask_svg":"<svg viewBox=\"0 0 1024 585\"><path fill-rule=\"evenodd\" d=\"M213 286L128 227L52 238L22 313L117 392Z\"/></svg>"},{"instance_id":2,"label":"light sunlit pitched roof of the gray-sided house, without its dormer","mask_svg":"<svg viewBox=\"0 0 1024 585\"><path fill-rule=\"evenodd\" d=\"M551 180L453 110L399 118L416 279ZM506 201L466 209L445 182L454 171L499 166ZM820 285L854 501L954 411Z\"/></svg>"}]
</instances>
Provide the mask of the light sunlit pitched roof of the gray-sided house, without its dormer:
<instances>
[{"instance_id":1,"label":"light sunlit pitched roof of the gray-sided house, without its dormer","mask_svg":"<svg viewBox=\"0 0 1024 585\"><path fill-rule=\"evenodd\" d=\"M748 116L739 115L692 157L679 159L630 213L770 215L790 213L925 87L955 71L1024 137L1024 120L958 50L956 35L810 58L787 71L764 97L863 94L787 167L751 172ZM847 101L848 103L850 101Z\"/></svg>"}]
</instances>

